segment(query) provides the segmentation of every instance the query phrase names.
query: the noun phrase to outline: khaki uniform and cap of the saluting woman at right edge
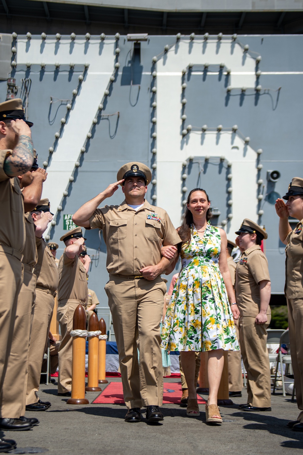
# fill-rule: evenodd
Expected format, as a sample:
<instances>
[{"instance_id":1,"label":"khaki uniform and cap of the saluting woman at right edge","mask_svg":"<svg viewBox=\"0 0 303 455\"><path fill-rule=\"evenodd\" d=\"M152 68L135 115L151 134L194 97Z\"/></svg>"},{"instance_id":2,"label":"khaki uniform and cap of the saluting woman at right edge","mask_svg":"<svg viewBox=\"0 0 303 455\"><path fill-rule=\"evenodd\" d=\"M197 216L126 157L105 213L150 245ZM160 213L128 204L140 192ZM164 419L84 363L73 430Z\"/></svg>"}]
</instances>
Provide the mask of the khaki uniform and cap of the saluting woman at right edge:
<instances>
[{"instance_id":1,"label":"khaki uniform and cap of the saluting woman at right edge","mask_svg":"<svg viewBox=\"0 0 303 455\"><path fill-rule=\"evenodd\" d=\"M288 192L283 199L289 196L303 196L303 178L293 178ZM286 238L286 282L285 296L288 306L288 328L290 354L296 398L300 414L298 422L303 422L303 219Z\"/></svg>"}]
</instances>

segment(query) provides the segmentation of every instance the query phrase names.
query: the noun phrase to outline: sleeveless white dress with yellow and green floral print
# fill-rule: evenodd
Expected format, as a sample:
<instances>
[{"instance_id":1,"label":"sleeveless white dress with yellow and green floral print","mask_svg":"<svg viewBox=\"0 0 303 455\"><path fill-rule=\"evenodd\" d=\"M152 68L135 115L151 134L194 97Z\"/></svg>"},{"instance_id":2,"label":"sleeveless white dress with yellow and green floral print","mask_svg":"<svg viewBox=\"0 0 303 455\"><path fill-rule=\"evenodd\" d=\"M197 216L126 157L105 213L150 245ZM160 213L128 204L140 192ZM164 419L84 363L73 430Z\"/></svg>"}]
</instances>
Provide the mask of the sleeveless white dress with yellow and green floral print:
<instances>
[{"instance_id":1,"label":"sleeveless white dress with yellow and green floral print","mask_svg":"<svg viewBox=\"0 0 303 455\"><path fill-rule=\"evenodd\" d=\"M207 224L201 239L191 227L182 244L182 268L167 308L162 349L170 351L239 350L225 284L219 269L219 228Z\"/></svg>"}]
</instances>

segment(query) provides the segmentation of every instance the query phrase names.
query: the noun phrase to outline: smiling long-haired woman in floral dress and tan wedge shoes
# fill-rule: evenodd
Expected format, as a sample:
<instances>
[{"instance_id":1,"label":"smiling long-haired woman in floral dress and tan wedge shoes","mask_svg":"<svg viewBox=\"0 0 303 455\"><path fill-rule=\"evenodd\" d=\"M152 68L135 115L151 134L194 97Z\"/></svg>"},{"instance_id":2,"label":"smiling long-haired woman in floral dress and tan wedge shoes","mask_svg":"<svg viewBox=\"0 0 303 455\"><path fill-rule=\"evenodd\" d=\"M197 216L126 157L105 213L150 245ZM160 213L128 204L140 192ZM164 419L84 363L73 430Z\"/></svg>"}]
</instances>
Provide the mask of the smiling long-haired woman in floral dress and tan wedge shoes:
<instances>
[{"instance_id":1,"label":"smiling long-haired woman in floral dress and tan wedge shoes","mask_svg":"<svg viewBox=\"0 0 303 455\"><path fill-rule=\"evenodd\" d=\"M180 351L188 385L187 415L200 415L195 390L195 351L208 351L209 397L206 421L220 424L217 393L224 365L224 350L238 350L233 318L239 310L227 267L227 238L223 229L211 226L210 200L200 188L187 198L183 223L178 233L182 268L167 308L162 329L162 348ZM175 247L162 248L171 258ZM166 273L174 268L178 258Z\"/></svg>"}]
</instances>

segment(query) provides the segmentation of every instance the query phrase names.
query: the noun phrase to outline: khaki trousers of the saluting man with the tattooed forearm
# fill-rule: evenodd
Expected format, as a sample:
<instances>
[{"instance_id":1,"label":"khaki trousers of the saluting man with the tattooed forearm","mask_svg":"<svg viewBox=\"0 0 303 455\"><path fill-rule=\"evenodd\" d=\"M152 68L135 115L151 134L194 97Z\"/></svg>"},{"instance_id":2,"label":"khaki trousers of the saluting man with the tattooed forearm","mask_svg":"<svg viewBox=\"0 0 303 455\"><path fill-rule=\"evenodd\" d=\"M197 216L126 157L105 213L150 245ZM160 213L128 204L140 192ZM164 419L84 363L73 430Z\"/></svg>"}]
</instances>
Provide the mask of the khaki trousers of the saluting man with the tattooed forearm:
<instances>
[{"instance_id":1,"label":"khaki trousers of the saluting man with the tattooed forearm","mask_svg":"<svg viewBox=\"0 0 303 455\"><path fill-rule=\"evenodd\" d=\"M18 294L23 281L23 264L21 254L18 254L19 258L0 251L0 393L10 357Z\"/></svg>"}]
</instances>

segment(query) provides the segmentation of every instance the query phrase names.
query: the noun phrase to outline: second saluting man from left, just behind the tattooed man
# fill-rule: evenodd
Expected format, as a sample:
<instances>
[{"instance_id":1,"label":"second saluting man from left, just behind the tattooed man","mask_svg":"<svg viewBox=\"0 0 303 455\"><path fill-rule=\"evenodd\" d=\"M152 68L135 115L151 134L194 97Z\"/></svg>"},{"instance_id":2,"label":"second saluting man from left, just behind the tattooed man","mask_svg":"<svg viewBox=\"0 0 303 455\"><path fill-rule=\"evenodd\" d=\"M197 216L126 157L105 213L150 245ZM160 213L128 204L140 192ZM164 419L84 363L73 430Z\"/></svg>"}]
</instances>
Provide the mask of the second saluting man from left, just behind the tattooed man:
<instances>
[{"instance_id":1,"label":"second saluting man from left, just behind the tattooed man","mask_svg":"<svg viewBox=\"0 0 303 455\"><path fill-rule=\"evenodd\" d=\"M31 319L36 297L36 275L34 266L37 262L37 248L34 221L30 211L39 202L42 192L42 183L47 173L36 164L36 158L31 171L18 176L24 199L26 213L26 243L23 250L23 283L18 296L15 316L14 334L10 350L10 358L5 374L2 394L0 397L1 415L37 425L37 419L27 419L25 414L26 387L20 384L27 383L27 356L30 345ZM16 380L18 378L18 380ZM29 426L27 429L32 428Z\"/></svg>"}]
</instances>

